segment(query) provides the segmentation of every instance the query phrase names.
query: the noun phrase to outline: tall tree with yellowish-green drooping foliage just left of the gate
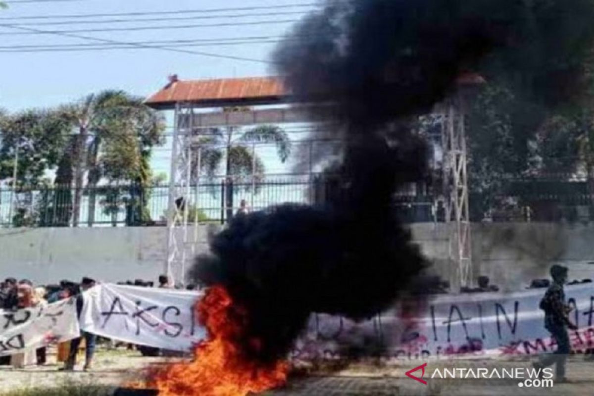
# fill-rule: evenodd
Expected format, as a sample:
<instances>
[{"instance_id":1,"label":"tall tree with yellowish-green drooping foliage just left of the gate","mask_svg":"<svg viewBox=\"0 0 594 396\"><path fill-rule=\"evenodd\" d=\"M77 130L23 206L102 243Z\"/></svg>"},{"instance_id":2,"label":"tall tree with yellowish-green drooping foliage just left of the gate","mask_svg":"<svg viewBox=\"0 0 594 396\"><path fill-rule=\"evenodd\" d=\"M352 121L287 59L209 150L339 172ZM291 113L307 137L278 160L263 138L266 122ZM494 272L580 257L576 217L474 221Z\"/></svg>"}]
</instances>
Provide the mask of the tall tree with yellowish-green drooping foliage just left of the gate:
<instances>
[{"instance_id":1,"label":"tall tree with yellowish-green drooping foliage just left of the gate","mask_svg":"<svg viewBox=\"0 0 594 396\"><path fill-rule=\"evenodd\" d=\"M75 188L72 224L76 227L80 221L84 174L88 172L90 226L96 186L102 178L125 179L141 186L149 182L150 149L161 142L165 124L161 116L144 106L141 98L124 91L90 94L80 102L63 106L60 112L77 131L71 154Z\"/></svg>"}]
</instances>

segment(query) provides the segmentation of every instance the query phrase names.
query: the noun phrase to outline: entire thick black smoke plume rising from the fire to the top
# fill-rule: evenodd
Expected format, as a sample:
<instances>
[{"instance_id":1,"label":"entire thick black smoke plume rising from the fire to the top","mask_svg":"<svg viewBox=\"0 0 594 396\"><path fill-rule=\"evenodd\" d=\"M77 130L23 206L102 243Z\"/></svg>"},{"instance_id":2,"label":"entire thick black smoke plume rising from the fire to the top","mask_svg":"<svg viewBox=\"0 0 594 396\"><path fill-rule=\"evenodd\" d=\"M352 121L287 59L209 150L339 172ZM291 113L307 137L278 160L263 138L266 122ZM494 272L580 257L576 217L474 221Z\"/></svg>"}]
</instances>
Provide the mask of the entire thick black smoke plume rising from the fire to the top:
<instances>
[{"instance_id":1,"label":"entire thick black smoke plume rising from the fire to the top","mask_svg":"<svg viewBox=\"0 0 594 396\"><path fill-rule=\"evenodd\" d=\"M565 55L592 44L592 15L585 0L333 1L296 27L274 61L299 100L334 115L340 191L238 216L197 259L194 277L248 312L245 354L279 359L310 313L368 318L406 292L426 267L392 205L425 172L414 118L468 71L551 106L577 99L581 64Z\"/></svg>"}]
</instances>

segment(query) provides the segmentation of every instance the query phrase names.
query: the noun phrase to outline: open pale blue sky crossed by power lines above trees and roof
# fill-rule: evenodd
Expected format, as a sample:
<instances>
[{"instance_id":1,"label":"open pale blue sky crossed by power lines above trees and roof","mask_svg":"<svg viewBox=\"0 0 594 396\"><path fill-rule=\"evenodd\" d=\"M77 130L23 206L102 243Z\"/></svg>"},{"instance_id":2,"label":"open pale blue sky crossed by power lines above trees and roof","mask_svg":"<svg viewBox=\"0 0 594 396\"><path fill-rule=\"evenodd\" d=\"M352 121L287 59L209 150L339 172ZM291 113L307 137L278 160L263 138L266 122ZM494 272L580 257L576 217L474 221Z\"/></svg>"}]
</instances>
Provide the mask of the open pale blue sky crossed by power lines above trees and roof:
<instances>
[{"instance_id":1,"label":"open pale blue sky crossed by power lines above trees and roof","mask_svg":"<svg viewBox=\"0 0 594 396\"><path fill-rule=\"evenodd\" d=\"M31 17L35 15L97 14L144 11L175 11L181 9L219 9L232 7L266 7L288 4L307 4L307 0L74 0L36 3L10 2L10 7L0 11L0 17ZM274 11L305 11L307 8L276 9ZM311 7L310 7L311 9ZM225 11L217 14L257 13L270 11ZM187 14L179 16L204 15ZM176 15L178 16L178 15ZM243 18L220 18L196 21L163 21L154 26L175 24L213 24L241 21L296 20L301 15L276 15ZM98 20L100 18L89 18ZM0 46L56 45L89 43L86 40L59 37L53 34L14 34L14 28L1 26L7 23L29 23L35 20L0 20ZM37 20L39 21L39 20ZM45 21L45 20L43 20ZM65 26L29 27L42 30L79 30L84 28L150 26L143 23L119 24L68 24ZM290 23L262 24L258 26L198 27L176 30L142 30L80 33L102 39L124 42L146 40L226 39L229 37L279 36ZM222 55L266 59L273 43L256 43L235 46L201 46L189 48ZM120 88L147 96L166 83L169 74L180 78L216 78L265 75L270 71L266 64L217 59L186 53L165 52L158 49L112 50L97 52L0 52L0 107L18 111L27 107L44 107L69 102L94 91Z\"/></svg>"}]
</instances>

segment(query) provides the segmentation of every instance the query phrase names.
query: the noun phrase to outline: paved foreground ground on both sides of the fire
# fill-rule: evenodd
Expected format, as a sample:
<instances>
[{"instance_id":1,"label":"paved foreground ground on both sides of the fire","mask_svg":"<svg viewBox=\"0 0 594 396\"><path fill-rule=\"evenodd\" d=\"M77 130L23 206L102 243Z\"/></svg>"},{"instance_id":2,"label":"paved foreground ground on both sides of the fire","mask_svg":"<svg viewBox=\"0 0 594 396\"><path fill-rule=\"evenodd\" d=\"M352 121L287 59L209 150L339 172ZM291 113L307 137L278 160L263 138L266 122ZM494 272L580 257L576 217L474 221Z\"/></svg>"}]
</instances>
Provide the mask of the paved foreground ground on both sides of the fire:
<instances>
[{"instance_id":1,"label":"paved foreground ground on both sides of the fire","mask_svg":"<svg viewBox=\"0 0 594 396\"><path fill-rule=\"evenodd\" d=\"M53 356L49 357L52 361ZM10 389L59 385L64 381L77 381L106 387L118 387L126 381L137 378L138 372L147 365L161 364L163 359L141 357L137 352L100 351L96 359L96 369L90 373L58 372L56 365L26 370L12 370L0 366L0 395ZM527 368L526 359L514 362L456 361L453 363L431 363L427 366L424 379L427 385L420 384L405 376L414 365L397 368L376 368L371 365L356 366L334 372L331 375L309 375L295 378L285 389L267 392L267 396L494 396L494 395L594 395L594 363L584 362L581 356L572 357L568 363L568 378L571 384L555 384L552 388L520 388L517 381L503 379L431 379L431 373L440 368Z\"/></svg>"}]
</instances>

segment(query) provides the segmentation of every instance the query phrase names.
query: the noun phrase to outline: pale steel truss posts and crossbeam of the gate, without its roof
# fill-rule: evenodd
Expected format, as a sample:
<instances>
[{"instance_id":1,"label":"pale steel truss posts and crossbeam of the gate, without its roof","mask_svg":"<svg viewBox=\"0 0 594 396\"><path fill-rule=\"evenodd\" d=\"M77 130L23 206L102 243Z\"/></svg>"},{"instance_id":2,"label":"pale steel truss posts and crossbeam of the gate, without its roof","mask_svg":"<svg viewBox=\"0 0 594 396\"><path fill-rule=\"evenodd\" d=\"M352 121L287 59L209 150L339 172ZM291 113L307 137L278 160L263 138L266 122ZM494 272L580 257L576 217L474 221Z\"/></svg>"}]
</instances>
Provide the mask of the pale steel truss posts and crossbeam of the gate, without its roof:
<instances>
[{"instance_id":1,"label":"pale steel truss posts and crossbeam of the gate, without its roof","mask_svg":"<svg viewBox=\"0 0 594 396\"><path fill-rule=\"evenodd\" d=\"M166 273L176 284L185 283L187 262L194 258L198 243L198 219L189 219L192 199L198 199L200 144L194 144L201 131L216 126L247 126L261 123L307 122L307 112L299 108L260 109L239 113L201 113L194 103L175 104L172 157L167 214L168 240ZM436 109L441 115L443 150L443 194L445 221L450 227L449 258L456 267L458 286L472 282L472 252L468 205L465 103L458 94ZM323 120L320 120L323 121ZM193 151L193 153L192 153ZM192 167L198 172L192 173ZM310 170L311 172L311 170ZM192 176L194 178L192 179ZM192 188L196 191L192 194ZM252 205L253 206L253 205ZM195 216L198 211L194 211ZM191 224L193 223L193 224Z\"/></svg>"}]
</instances>

